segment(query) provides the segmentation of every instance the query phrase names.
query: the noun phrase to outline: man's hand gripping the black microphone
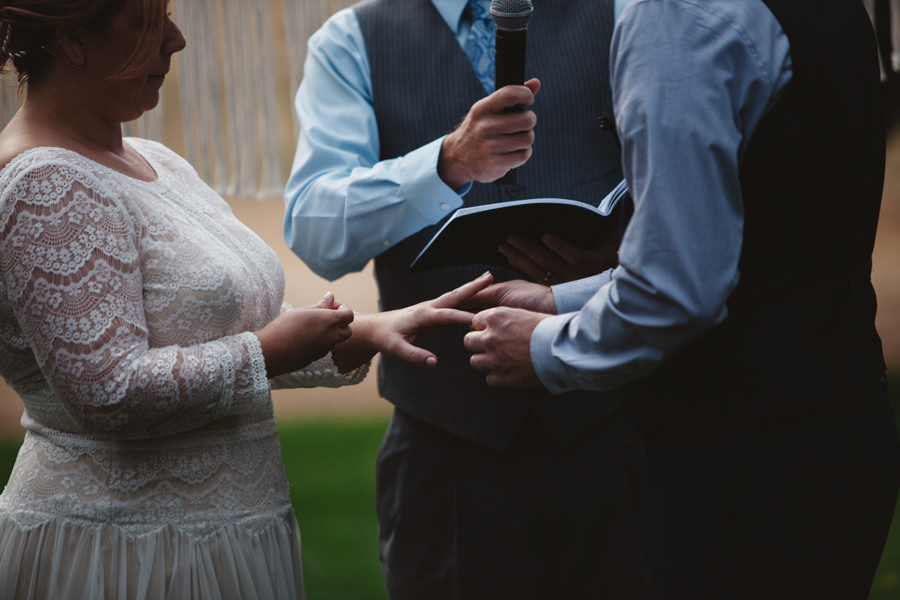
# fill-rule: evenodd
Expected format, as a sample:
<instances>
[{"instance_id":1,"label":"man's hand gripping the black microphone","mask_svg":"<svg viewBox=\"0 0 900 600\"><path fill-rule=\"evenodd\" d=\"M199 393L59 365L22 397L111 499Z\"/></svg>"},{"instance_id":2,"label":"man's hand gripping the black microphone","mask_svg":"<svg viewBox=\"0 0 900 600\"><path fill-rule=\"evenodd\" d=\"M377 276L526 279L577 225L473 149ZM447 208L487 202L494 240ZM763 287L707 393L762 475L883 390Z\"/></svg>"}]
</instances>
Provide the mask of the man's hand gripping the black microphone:
<instances>
[{"instance_id":1,"label":"man's hand gripping the black microphone","mask_svg":"<svg viewBox=\"0 0 900 600\"><path fill-rule=\"evenodd\" d=\"M502 87L479 100L459 127L444 138L438 176L458 190L470 181L487 183L521 167L531 158L537 117L530 110L505 113L516 104L530 106L541 89L537 79Z\"/></svg>"}]
</instances>

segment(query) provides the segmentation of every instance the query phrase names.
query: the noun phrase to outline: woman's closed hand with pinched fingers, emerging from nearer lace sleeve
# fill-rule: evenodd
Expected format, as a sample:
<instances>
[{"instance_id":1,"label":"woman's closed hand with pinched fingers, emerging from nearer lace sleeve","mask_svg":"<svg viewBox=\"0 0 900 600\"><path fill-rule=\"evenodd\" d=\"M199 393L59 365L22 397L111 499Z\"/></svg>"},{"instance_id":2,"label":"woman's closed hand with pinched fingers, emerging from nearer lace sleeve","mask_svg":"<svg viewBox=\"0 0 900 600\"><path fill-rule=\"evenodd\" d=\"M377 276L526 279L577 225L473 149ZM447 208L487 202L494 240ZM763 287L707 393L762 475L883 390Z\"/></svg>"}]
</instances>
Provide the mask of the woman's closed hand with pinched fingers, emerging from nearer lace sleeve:
<instances>
[{"instance_id":1,"label":"woman's closed hand with pinched fingers, emerging from nearer lace sleeve","mask_svg":"<svg viewBox=\"0 0 900 600\"><path fill-rule=\"evenodd\" d=\"M335 302L331 292L308 308L295 308L255 331L269 379L291 373L322 358L350 337L353 311Z\"/></svg>"}]
</instances>

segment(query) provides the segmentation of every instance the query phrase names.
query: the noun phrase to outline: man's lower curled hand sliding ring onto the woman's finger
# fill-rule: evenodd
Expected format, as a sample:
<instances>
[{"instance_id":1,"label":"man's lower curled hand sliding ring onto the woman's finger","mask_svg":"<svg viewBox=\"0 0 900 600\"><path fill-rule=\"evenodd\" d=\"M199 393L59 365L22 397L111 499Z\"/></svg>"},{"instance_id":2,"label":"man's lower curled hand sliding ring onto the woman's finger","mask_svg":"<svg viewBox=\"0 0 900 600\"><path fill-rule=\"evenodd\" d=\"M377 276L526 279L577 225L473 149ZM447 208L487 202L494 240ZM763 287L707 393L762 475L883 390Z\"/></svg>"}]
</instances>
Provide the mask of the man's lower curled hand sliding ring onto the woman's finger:
<instances>
[{"instance_id":1,"label":"man's lower curled hand sliding ring onto the woman's finger","mask_svg":"<svg viewBox=\"0 0 900 600\"><path fill-rule=\"evenodd\" d=\"M491 308L475 315L466 334L466 348L474 352L471 365L488 371L488 385L542 385L531 364L531 334L549 315L516 308Z\"/></svg>"}]
</instances>

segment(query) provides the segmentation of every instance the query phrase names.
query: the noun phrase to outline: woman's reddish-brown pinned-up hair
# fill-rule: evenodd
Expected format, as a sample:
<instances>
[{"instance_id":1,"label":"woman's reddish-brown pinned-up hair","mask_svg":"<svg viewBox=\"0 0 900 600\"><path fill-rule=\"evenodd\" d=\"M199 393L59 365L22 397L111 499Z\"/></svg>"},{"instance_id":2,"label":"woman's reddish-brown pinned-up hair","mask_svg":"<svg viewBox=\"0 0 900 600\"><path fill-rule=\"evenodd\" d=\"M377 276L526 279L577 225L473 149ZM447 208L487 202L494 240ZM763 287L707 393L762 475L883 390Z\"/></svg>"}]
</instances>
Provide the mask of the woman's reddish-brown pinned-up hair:
<instances>
[{"instance_id":1,"label":"woman's reddish-brown pinned-up hair","mask_svg":"<svg viewBox=\"0 0 900 600\"><path fill-rule=\"evenodd\" d=\"M53 45L60 41L62 28L102 34L130 3L140 15L141 34L134 52L112 78L138 75L159 51L166 0L0 0L0 72L7 72L11 64L19 83L40 78L58 54Z\"/></svg>"}]
</instances>

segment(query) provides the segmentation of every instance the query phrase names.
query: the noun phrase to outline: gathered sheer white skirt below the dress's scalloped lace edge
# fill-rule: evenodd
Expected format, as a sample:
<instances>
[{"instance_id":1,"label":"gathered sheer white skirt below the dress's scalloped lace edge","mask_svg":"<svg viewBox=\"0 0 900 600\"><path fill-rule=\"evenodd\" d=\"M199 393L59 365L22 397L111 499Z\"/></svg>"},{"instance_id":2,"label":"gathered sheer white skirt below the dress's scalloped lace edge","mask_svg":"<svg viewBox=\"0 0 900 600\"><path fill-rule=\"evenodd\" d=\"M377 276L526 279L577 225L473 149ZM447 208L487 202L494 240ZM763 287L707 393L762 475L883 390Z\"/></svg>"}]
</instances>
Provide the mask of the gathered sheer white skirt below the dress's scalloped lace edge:
<instances>
[{"instance_id":1,"label":"gathered sheer white skirt below the dress's scalloped lace edge","mask_svg":"<svg viewBox=\"0 0 900 600\"><path fill-rule=\"evenodd\" d=\"M171 527L140 537L59 519L22 530L0 515L3 600L305 599L291 512L260 533L228 525L197 539Z\"/></svg>"}]
</instances>

